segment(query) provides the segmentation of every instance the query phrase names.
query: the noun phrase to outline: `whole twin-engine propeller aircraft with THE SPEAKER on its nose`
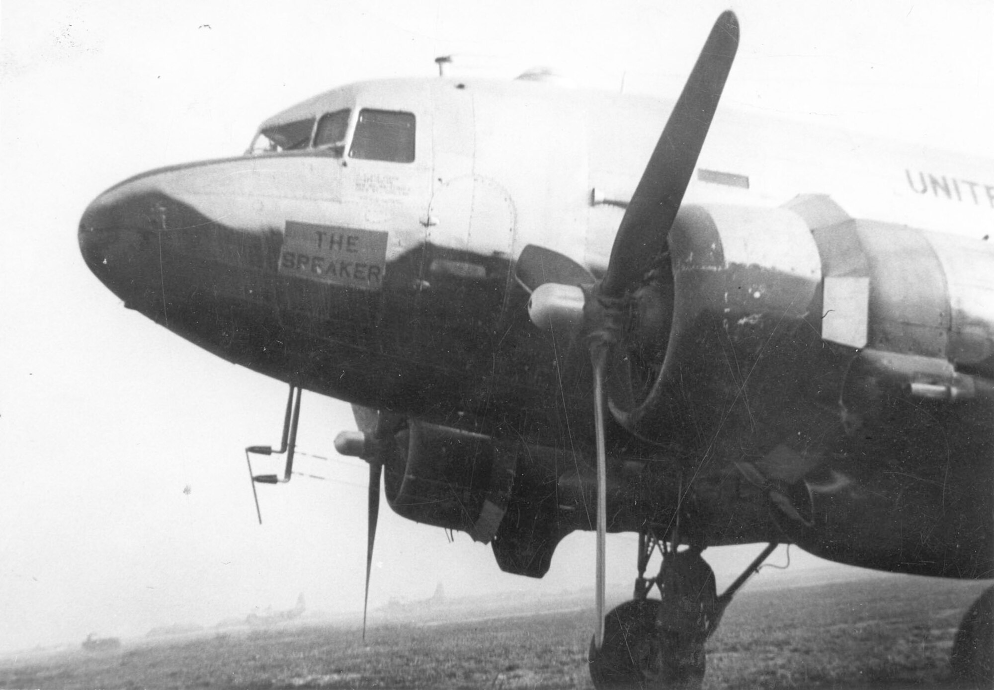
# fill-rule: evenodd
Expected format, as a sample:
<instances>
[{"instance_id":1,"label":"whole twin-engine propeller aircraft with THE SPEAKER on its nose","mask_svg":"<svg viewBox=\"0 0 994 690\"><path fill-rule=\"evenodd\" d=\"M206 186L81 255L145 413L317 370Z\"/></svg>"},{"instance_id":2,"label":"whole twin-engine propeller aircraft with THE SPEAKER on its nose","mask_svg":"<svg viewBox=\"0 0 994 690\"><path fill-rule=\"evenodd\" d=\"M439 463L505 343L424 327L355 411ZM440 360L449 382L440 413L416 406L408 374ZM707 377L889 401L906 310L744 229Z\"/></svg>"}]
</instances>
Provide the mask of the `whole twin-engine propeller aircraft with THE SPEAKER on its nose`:
<instances>
[{"instance_id":1,"label":"whole twin-engine propeller aircraft with THE SPEAKER on its nose","mask_svg":"<svg viewBox=\"0 0 994 690\"><path fill-rule=\"evenodd\" d=\"M693 687L777 544L994 577L994 167L719 110L738 43L727 12L676 101L541 72L335 88L243 156L101 194L83 257L289 384L286 478L300 390L354 406L370 555L382 474L510 573L596 530L594 684ZM640 545L606 616L605 532ZM701 553L753 543L718 595ZM960 677L989 682L992 597Z\"/></svg>"}]
</instances>

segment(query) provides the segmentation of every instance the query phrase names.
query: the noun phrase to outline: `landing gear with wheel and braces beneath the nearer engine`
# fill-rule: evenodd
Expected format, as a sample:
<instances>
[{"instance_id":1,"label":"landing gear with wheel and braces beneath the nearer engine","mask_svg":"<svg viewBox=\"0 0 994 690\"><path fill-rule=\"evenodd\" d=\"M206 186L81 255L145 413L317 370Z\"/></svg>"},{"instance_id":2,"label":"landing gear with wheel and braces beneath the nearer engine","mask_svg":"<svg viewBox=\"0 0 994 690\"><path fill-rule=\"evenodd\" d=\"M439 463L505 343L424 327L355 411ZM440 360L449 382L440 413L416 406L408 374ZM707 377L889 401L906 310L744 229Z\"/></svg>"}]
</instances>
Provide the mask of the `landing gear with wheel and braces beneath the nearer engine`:
<instances>
[{"instance_id":1,"label":"landing gear with wheel and braces beneath the nearer engine","mask_svg":"<svg viewBox=\"0 0 994 690\"><path fill-rule=\"evenodd\" d=\"M645 568L656 548L663 554L663 564L658 576L646 578ZM590 642L593 686L598 690L700 688L705 642L735 593L775 548L776 544L769 544L719 597L715 574L701 557L702 549L677 551L651 533L639 534L635 598L604 617L600 649ZM659 589L659 600L648 598L653 588Z\"/></svg>"}]
</instances>

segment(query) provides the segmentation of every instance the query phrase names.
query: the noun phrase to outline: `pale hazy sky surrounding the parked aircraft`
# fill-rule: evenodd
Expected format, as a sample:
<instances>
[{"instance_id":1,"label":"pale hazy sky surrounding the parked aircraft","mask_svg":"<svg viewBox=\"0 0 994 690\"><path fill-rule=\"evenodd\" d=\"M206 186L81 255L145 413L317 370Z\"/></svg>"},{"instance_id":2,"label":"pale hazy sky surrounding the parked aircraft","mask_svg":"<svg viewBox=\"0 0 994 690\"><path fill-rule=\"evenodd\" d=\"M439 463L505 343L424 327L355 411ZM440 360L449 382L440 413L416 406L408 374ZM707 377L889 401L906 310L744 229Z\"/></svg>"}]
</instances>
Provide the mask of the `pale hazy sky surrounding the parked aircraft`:
<instances>
[{"instance_id":1,"label":"pale hazy sky surrounding the parked aircraft","mask_svg":"<svg viewBox=\"0 0 994 690\"><path fill-rule=\"evenodd\" d=\"M433 75L438 55L479 76L546 65L580 86L672 93L729 4L4 0L0 650L209 625L300 592L312 608L362 605L367 467L332 448L354 428L348 407L304 394L299 448L329 459L297 466L327 479L260 487L259 527L242 449L278 441L283 385L125 310L79 254L93 197L239 154L260 120L315 92ZM731 5L742 44L723 107L994 156L991 3ZM609 558L609 582L630 583L634 537L612 538ZM712 558L726 581L730 558ZM592 578L589 535L531 581L384 503L371 603L439 582L459 596Z\"/></svg>"}]
</instances>

